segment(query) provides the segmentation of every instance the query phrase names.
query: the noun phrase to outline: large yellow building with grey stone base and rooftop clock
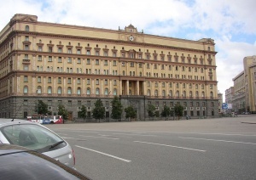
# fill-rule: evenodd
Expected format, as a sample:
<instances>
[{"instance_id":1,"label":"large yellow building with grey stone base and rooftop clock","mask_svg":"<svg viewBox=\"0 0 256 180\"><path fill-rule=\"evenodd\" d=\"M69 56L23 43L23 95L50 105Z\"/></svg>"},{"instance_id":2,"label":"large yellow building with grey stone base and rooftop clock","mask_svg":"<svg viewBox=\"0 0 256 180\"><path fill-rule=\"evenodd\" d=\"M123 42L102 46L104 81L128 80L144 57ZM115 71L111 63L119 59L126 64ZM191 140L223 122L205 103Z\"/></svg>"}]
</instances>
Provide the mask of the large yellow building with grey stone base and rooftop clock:
<instances>
[{"instance_id":1,"label":"large yellow building with grey stone base and rooftop clock","mask_svg":"<svg viewBox=\"0 0 256 180\"><path fill-rule=\"evenodd\" d=\"M119 96L147 119L147 106L182 104L192 117L218 116L215 43L138 31L40 22L15 14L0 32L0 115L26 118L38 99L53 115L64 104L69 119L101 98L106 116ZM125 116L125 115L124 115Z\"/></svg>"}]
</instances>

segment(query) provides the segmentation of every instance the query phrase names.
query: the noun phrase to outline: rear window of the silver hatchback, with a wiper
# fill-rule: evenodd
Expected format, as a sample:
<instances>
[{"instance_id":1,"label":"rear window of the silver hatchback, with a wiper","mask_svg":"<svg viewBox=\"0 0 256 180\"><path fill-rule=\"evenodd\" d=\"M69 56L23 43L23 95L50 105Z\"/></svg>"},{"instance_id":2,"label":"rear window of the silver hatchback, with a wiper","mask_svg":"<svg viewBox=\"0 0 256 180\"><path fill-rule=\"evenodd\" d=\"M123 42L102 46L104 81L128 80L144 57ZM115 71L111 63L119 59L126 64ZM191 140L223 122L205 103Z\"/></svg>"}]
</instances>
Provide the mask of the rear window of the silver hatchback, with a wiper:
<instances>
[{"instance_id":1,"label":"rear window of the silver hatchback, with a wiper","mask_svg":"<svg viewBox=\"0 0 256 180\"><path fill-rule=\"evenodd\" d=\"M44 153L66 146L63 139L56 136L48 129L32 124L17 124L2 127L0 131L9 143L20 145L28 149Z\"/></svg>"}]
</instances>

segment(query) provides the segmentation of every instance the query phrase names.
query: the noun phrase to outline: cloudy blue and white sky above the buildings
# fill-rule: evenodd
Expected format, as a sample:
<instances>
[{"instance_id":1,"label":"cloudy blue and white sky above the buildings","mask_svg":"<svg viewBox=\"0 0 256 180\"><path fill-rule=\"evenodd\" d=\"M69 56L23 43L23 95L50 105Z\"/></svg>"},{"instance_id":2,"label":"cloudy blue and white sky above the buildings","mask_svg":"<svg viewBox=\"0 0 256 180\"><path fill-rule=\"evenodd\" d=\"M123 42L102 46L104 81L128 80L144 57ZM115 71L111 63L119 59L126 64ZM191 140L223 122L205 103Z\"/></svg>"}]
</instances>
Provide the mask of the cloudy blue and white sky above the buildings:
<instances>
[{"instance_id":1,"label":"cloudy blue and white sky above the buildings","mask_svg":"<svg viewBox=\"0 0 256 180\"><path fill-rule=\"evenodd\" d=\"M218 91L234 86L243 59L256 55L255 0L0 0L0 30L15 14L38 21L124 29L215 42Z\"/></svg>"}]
</instances>

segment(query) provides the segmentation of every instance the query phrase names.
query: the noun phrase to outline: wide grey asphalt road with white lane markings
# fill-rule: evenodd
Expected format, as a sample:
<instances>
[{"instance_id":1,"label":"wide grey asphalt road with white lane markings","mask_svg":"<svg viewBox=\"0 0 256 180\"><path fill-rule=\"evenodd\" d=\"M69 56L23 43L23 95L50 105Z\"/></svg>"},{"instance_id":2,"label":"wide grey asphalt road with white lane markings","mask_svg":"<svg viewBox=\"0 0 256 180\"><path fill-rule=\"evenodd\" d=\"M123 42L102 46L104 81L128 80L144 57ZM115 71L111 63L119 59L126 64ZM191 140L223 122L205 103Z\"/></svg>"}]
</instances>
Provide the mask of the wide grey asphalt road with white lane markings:
<instances>
[{"instance_id":1,"label":"wide grey asphalt road with white lane markings","mask_svg":"<svg viewBox=\"0 0 256 180\"><path fill-rule=\"evenodd\" d=\"M256 115L46 127L92 179L256 179Z\"/></svg>"}]
</instances>

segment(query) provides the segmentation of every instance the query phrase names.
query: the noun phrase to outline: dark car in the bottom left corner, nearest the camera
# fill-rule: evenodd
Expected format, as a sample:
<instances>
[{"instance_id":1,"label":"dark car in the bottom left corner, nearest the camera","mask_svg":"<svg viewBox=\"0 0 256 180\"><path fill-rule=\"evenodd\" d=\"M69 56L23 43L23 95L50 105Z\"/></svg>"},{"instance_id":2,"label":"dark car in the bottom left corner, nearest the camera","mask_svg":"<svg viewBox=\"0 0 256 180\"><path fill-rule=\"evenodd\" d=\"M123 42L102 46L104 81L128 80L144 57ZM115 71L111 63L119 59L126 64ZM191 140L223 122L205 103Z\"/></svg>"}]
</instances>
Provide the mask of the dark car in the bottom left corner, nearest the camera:
<instances>
[{"instance_id":1,"label":"dark car in the bottom left corner, nearest the camera","mask_svg":"<svg viewBox=\"0 0 256 180\"><path fill-rule=\"evenodd\" d=\"M90 179L49 156L24 147L0 144L1 179Z\"/></svg>"}]
</instances>

